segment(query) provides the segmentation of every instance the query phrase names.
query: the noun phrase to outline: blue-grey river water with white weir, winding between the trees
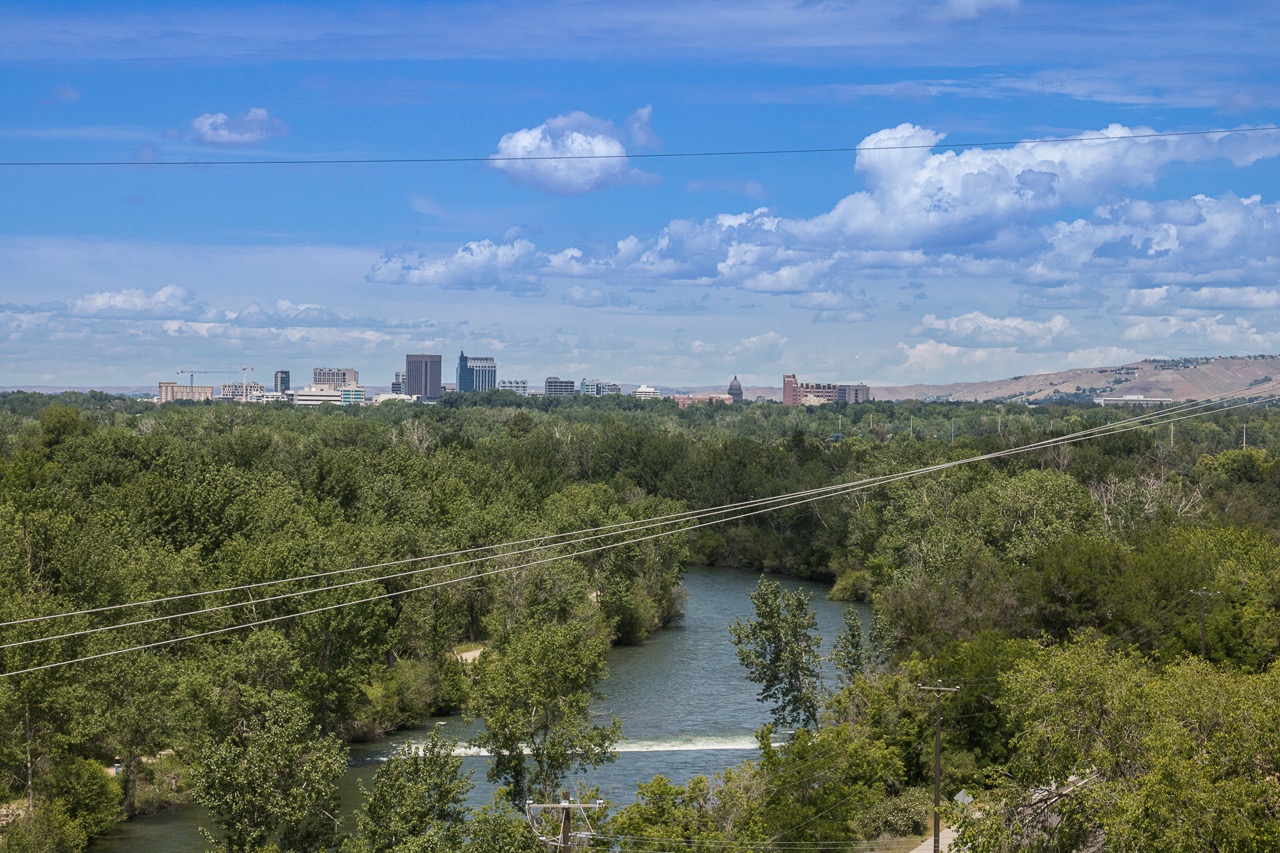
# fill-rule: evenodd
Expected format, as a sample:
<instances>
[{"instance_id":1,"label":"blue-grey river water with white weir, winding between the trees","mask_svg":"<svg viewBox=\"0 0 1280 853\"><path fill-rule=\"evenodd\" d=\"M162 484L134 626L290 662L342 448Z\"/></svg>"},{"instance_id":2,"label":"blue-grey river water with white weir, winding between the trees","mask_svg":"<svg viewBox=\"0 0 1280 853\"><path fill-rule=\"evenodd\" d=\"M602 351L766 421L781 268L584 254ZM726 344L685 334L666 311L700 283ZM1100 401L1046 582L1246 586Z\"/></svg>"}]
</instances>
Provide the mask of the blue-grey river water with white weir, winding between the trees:
<instances>
[{"instance_id":1,"label":"blue-grey river water with white weir, winding between the trees","mask_svg":"<svg viewBox=\"0 0 1280 853\"><path fill-rule=\"evenodd\" d=\"M689 598L680 625L658 631L640 646L609 652L609 678L599 685L594 712L622 720L623 740L617 761L570 781L599 789L617 804L635 800L636 784L662 774L684 784L699 774L712 775L756 756L754 731L768 721L768 706L756 699L756 685L746 680L733 653L728 625L751 615L748 598L759 575L735 569L694 567L685 573ZM840 631L846 605L826 598L822 584L780 579L783 587L812 593L824 652ZM864 630L869 613L863 612ZM831 674L828 672L828 676ZM465 740L460 717L426 720L420 729L381 740L356 744L351 767L342 779L342 803L349 813L360 804L360 783L372 777L379 763L406 743L421 740L433 726ZM485 758L468 756L463 770L474 770L474 804L489 802L494 786L485 780ZM183 853L206 849L198 826L210 826L204 809L177 808L137 818L99 840L92 853ZM353 829L347 820L346 827Z\"/></svg>"}]
</instances>

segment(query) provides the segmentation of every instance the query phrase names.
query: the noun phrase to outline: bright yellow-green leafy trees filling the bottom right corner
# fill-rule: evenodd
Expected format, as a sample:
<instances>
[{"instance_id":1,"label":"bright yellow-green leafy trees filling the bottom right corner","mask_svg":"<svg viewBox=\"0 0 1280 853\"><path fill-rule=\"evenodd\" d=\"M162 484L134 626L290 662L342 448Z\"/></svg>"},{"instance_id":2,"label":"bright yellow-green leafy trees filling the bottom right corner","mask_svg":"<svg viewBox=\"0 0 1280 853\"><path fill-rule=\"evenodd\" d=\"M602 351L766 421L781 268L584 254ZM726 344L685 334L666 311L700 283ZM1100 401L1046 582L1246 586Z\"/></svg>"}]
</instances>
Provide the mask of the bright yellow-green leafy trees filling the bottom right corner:
<instances>
[{"instance_id":1,"label":"bright yellow-green leafy trees filling the bottom right corner","mask_svg":"<svg viewBox=\"0 0 1280 853\"><path fill-rule=\"evenodd\" d=\"M1009 781L963 821L977 850L1266 850L1280 843L1280 680L1197 660L1153 671L1100 639L1006 678Z\"/></svg>"}]
</instances>

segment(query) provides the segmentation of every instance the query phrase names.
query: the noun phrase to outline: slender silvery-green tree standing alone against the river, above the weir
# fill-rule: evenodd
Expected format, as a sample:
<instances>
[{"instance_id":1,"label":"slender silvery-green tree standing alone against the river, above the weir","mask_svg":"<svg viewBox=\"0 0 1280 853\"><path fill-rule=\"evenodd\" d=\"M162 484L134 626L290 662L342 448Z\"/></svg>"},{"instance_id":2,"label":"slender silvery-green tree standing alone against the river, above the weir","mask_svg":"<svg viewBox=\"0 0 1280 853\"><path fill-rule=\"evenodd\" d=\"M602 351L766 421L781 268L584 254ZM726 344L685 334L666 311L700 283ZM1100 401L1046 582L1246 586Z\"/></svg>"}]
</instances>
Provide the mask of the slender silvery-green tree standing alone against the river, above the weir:
<instances>
[{"instance_id":1,"label":"slender silvery-green tree standing alone against the river, above the weir","mask_svg":"<svg viewBox=\"0 0 1280 853\"><path fill-rule=\"evenodd\" d=\"M817 726L822 638L813 633L818 617L809 607L809 596L760 578L751 592L751 607L755 619L737 619L728 626L746 676L760 685L762 701L773 702L773 719L780 725Z\"/></svg>"}]
</instances>

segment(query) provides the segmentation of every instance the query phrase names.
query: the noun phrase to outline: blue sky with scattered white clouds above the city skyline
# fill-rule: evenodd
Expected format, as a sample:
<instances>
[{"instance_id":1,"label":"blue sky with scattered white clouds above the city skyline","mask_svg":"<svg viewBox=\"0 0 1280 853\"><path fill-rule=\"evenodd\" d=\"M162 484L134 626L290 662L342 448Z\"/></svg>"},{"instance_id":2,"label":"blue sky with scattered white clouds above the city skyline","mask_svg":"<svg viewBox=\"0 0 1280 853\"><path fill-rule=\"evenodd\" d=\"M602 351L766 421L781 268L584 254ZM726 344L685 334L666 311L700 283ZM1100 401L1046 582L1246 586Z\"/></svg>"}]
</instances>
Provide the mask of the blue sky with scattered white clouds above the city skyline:
<instances>
[{"instance_id":1,"label":"blue sky with scattered white clouds above the city skyline","mask_svg":"<svg viewBox=\"0 0 1280 853\"><path fill-rule=\"evenodd\" d=\"M460 350L666 386L1280 352L1275 4L0 17L0 160L122 164L0 167L0 386L389 384ZM731 154L817 149L845 150ZM387 159L457 161L247 163Z\"/></svg>"}]
</instances>

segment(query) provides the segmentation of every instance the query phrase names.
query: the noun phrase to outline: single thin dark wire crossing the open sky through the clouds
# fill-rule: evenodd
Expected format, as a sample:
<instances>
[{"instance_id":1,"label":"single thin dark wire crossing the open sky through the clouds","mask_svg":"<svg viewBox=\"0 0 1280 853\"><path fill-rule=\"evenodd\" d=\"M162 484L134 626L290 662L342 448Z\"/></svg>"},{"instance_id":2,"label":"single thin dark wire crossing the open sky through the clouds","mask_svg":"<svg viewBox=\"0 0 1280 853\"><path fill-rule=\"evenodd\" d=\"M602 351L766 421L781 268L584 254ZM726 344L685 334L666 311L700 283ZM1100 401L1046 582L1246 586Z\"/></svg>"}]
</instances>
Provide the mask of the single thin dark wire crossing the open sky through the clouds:
<instances>
[{"instance_id":1,"label":"single thin dark wire crossing the open sky through the clouds","mask_svg":"<svg viewBox=\"0 0 1280 853\"><path fill-rule=\"evenodd\" d=\"M1167 140L1183 136L1225 136L1229 133L1265 133L1280 131L1280 126L1243 127L1235 129L1216 128L1211 131L1167 131L1153 133L1121 133L1115 136L1078 136L1050 140L992 140L975 142L936 142L902 145L850 145L812 149L741 149L714 151L669 151L637 154L538 154L506 156L492 154L486 156L438 156L438 158L288 158L279 160L4 160L0 168L40 168L40 167L268 167L268 165L448 165L466 163L538 163L564 160L690 160L708 158L749 158L749 156L795 156L818 154L863 154L873 151L920 151L963 149L1025 147L1032 145L1074 145L1079 142L1121 142L1132 140Z\"/></svg>"}]
</instances>

